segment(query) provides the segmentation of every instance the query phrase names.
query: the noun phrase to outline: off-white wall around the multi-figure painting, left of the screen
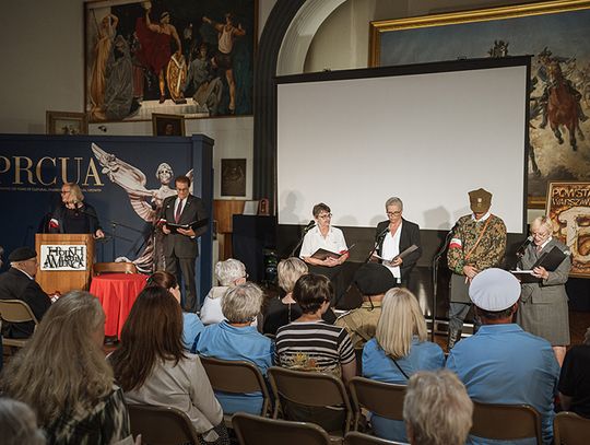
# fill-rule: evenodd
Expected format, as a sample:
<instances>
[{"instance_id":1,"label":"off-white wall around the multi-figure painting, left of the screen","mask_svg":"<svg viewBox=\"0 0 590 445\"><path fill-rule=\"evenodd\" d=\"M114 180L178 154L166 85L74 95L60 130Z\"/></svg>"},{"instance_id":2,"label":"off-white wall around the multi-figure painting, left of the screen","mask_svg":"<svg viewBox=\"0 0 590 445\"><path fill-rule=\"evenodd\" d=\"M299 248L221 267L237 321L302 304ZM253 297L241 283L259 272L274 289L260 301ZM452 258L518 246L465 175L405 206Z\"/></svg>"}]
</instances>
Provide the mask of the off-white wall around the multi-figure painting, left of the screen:
<instances>
[{"instance_id":1,"label":"off-white wall around the multi-figure painting, left of the screen","mask_svg":"<svg viewBox=\"0 0 590 445\"><path fill-rule=\"evenodd\" d=\"M259 0L259 36L276 0ZM5 4L4 4L5 3ZM83 1L17 0L2 4L0 26L0 133L45 133L45 112L82 112L84 106ZM97 125L90 133L101 133ZM106 134L152 134L152 122L106 124ZM215 140L214 168L222 157L246 157L247 198L252 195L253 118L187 120L187 134ZM221 197L215 175L214 197Z\"/></svg>"}]
</instances>

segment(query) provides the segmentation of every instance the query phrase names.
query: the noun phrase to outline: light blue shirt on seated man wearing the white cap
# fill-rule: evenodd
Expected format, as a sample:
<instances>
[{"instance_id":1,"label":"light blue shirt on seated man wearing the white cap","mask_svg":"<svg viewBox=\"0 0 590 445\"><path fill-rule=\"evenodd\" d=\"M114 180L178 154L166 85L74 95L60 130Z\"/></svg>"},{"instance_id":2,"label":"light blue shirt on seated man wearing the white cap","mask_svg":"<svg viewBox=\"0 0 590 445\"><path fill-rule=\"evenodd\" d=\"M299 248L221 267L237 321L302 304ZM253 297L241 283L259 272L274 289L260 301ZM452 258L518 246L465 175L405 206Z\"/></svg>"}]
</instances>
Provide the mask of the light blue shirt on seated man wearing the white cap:
<instances>
[{"instance_id":1,"label":"light blue shirt on seated man wearing the white cap","mask_svg":"<svg viewBox=\"0 0 590 445\"><path fill-rule=\"evenodd\" d=\"M542 417L543 442L551 444L559 365L546 340L516 324L484 325L455 346L447 367L459 376L473 400L533 407ZM535 440L500 442L470 436L468 443L534 444Z\"/></svg>"}]
</instances>

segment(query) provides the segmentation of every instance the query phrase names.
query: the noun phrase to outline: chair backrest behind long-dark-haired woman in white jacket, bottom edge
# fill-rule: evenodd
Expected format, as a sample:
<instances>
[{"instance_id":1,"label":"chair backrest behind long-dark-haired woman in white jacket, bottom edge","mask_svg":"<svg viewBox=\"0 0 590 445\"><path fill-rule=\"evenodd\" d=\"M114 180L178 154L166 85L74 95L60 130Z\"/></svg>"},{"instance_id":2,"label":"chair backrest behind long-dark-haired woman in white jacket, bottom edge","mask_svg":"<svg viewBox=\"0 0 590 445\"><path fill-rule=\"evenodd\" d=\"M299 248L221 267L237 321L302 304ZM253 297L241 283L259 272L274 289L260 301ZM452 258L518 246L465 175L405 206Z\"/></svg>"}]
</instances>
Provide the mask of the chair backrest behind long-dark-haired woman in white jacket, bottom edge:
<instances>
[{"instance_id":1,"label":"chair backrest behind long-dark-haired woman in white jacket, bottom edge","mask_svg":"<svg viewBox=\"0 0 590 445\"><path fill-rule=\"evenodd\" d=\"M192 422L182 411L172 407L129 405L131 434L141 434L142 442L150 445L199 443Z\"/></svg>"}]
</instances>

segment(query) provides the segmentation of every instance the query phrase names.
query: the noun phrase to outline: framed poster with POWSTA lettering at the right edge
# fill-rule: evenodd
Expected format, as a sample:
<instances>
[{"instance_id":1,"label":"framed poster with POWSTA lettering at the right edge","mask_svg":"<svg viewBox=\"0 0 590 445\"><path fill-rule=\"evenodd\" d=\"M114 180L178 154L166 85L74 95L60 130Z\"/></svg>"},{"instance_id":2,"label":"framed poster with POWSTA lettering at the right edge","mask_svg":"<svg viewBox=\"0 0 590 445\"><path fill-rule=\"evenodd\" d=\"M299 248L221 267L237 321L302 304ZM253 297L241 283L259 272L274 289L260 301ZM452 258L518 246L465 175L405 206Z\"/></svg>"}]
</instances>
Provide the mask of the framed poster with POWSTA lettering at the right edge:
<instances>
[{"instance_id":1,"label":"framed poster with POWSTA lettering at the right edge","mask_svg":"<svg viewBox=\"0 0 590 445\"><path fill-rule=\"evenodd\" d=\"M550 183L547 216L571 254L569 274L590 278L590 183Z\"/></svg>"}]
</instances>

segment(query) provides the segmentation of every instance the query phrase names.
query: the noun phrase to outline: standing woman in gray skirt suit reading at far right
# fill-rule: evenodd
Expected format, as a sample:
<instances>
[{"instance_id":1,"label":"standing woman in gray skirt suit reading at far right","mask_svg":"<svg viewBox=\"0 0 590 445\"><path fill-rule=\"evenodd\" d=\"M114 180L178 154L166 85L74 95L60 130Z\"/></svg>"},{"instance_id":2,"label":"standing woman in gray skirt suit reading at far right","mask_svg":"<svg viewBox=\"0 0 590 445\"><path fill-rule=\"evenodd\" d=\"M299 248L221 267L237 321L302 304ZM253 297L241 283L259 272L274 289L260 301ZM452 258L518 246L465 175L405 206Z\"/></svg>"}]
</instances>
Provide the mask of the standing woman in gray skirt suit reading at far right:
<instances>
[{"instance_id":1,"label":"standing woman in gray skirt suit reading at far right","mask_svg":"<svg viewBox=\"0 0 590 445\"><path fill-rule=\"evenodd\" d=\"M531 223L532 243L527 246L518 261L521 270L531 270L539 281L522 283L518 304L517 323L528 332L542 337L553 347L559 366L564 362L566 346L569 344L569 316L565 283L571 259L568 248L555 239L553 223L547 216L539 216ZM554 271L534 267L539 257L557 247L566 254Z\"/></svg>"}]
</instances>

